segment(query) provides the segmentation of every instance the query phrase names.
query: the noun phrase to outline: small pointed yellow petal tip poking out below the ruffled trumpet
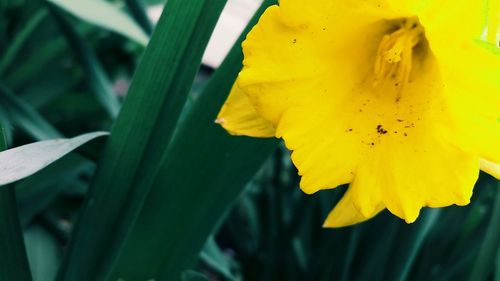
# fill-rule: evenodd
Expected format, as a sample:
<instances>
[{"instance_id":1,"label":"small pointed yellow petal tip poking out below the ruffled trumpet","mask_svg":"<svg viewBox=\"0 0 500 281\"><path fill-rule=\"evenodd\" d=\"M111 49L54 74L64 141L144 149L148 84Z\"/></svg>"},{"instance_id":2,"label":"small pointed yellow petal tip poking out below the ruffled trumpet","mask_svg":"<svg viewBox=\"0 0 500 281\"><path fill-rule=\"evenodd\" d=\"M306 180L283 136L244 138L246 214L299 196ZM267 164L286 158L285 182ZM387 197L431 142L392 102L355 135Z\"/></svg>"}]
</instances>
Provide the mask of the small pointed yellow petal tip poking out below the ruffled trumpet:
<instances>
[{"instance_id":1,"label":"small pointed yellow petal tip poking out below the ruffled trumpet","mask_svg":"<svg viewBox=\"0 0 500 281\"><path fill-rule=\"evenodd\" d=\"M352 198L353 186L347 189L342 199L337 203L335 208L328 214L323 227L344 227L357 224L368 219L371 219L384 209L382 202L379 202L373 211L367 215L361 213Z\"/></svg>"}]
</instances>

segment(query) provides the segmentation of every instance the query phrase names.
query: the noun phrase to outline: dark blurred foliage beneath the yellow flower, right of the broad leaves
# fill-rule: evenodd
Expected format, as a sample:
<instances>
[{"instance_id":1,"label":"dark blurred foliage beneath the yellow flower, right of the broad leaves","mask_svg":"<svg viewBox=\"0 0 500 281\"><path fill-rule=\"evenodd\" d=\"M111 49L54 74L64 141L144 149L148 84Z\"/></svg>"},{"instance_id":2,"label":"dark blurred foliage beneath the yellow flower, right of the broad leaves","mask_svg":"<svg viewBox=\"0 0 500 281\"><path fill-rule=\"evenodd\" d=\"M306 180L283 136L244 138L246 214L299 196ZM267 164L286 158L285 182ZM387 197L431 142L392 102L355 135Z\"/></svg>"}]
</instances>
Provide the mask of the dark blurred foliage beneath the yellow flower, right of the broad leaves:
<instances>
[{"instance_id":1,"label":"dark blurred foliage beneath the yellow flower, right of the broad leaves","mask_svg":"<svg viewBox=\"0 0 500 281\"><path fill-rule=\"evenodd\" d=\"M467 207L425 209L410 225L384 211L341 229L321 225L345 187L305 196L298 181L280 148L228 214L216 240L232 257L232 280L489 280L499 266L479 255L499 246L498 186L486 174ZM481 278L471 275L478 263L489 264Z\"/></svg>"}]
</instances>

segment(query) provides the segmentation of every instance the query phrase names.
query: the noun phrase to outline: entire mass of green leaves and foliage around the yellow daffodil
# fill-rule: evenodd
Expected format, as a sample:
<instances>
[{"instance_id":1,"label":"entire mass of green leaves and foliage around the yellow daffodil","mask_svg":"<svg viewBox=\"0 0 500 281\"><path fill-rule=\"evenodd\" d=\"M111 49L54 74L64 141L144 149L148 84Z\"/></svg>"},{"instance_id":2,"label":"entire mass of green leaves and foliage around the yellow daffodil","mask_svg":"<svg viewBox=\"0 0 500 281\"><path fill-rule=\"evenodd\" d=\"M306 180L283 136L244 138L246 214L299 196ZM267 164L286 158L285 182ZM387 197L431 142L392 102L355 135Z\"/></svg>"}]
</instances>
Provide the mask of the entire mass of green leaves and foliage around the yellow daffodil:
<instances>
[{"instance_id":1,"label":"entire mass of green leaves and foliage around the yellow daffodil","mask_svg":"<svg viewBox=\"0 0 500 281\"><path fill-rule=\"evenodd\" d=\"M304 195L278 141L214 123L274 1L215 70L226 1L169 0L153 31L163 2L0 0L1 281L500 278L487 175L465 208L323 229L343 189Z\"/></svg>"}]
</instances>

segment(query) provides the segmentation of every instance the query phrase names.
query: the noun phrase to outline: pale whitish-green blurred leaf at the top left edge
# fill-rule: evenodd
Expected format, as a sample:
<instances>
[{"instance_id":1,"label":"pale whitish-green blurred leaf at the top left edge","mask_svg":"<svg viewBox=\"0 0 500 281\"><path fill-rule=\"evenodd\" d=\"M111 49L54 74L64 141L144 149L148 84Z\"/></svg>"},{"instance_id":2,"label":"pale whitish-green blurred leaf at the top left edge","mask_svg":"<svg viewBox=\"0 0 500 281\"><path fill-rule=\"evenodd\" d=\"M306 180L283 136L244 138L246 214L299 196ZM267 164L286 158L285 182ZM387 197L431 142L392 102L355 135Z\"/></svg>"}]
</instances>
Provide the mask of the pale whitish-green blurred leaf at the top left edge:
<instances>
[{"instance_id":1,"label":"pale whitish-green blurred leaf at the top left edge","mask_svg":"<svg viewBox=\"0 0 500 281\"><path fill-rule=\"evenodd\" d=\"M117 6L104 0L47 0L92 24L119 33L137 43L146 46L149 41L129 15Z\"/></svg>"}]
</instances>

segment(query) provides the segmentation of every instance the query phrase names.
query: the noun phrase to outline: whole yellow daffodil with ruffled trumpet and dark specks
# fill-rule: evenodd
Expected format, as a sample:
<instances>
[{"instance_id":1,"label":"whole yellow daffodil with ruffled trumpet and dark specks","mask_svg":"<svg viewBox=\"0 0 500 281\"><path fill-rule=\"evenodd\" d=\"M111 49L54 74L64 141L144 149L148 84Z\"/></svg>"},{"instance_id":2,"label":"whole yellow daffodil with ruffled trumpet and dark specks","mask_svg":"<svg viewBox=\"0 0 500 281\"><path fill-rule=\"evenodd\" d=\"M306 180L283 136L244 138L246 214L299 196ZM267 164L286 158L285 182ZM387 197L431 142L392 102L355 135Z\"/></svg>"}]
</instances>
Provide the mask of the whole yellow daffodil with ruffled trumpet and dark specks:
<instances>
[{"instance_id":1,"label":"whole yellow daffodil with ruffled trumpet and dark specks","mask_svg":"<svg viewBox=\"0 0 500 281\"><path fill-rule=\"evenodd\" d=\"M350 183L327 227L466 205L480 167L500 174L499 10L486 5L282 0L243 43L217 122L283 138L306 193Z\"/></svg>"}]
</instances>

